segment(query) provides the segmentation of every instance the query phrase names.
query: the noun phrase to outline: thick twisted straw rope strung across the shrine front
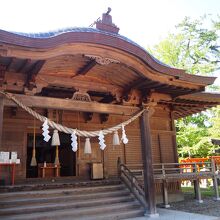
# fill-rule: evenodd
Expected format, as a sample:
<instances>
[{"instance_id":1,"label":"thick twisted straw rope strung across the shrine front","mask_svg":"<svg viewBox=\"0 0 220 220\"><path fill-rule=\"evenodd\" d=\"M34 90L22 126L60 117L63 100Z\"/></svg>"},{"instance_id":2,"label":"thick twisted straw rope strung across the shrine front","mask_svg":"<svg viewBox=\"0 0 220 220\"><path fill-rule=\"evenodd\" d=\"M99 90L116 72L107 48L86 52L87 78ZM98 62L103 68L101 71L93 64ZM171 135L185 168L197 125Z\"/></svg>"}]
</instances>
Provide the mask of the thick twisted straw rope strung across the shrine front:
<instances>
[{"instance_id":1,"label":"thick twisted straw rope strung across the shrine front","mask_svg":"<svg viewBox=\"0 0 220 220\"><path fill-rule=\"evenodd\" d=\"M80 136L80 137L97 137L99 136L100 130L99 131L81 131L81 130L77 130L77 129L73 129L73 128L68 128L66 126L63 126L61 124L55 123L54 121L49 120L48 118L46 118L45 116L42 116L40 114L38 114L37 112L33 111L31 108L25 106L22 102L20 102L19 100L17 100L15 98L15 96L13 96L10 93L5 93L3 91L0 91L1 94L5 95L8 99L11 99L13 102L15 102L19 107L21 107L22 109L24 109L26 112L28 112L30 115L32 115L33 117L35 117L36 119L40 120L41 122L45 122L47 120L48 125L53 128L56 129L60 132L64 132L66 134L72 134L75 132L76 135ZM124 121L114 127L110 127L107 129L102 130L103 135L107 135L107 134L111 134L119 129L121 129L123 126L126 126L128 124L130 124L132 121L136 120L138 117L141 116L141 114L146 111L148 109L143 109L140 112L138 112L136 115L134 115L132 118L128 119L127 121Z\"/></svg>"}]
</instances>

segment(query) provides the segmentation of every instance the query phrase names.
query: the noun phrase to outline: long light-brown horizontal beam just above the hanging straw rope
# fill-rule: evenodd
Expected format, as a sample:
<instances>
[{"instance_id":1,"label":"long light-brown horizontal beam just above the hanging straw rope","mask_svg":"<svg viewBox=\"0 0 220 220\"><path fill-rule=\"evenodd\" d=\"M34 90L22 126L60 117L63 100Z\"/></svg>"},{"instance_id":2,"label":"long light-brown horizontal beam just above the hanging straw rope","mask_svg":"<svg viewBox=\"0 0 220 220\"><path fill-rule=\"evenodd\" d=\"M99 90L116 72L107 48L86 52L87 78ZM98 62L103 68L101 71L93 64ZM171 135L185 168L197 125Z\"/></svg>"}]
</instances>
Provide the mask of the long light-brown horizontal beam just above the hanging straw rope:
<instances>
[{"instance_id":1,"label":"long light-brown horizontal beam just above the hanging straw rope","mask_svg":"<svg viewBox=\"0 0 220 220\"><path fill-rule=\"evenodd\" d=\"M1 97L2 95L0 95ZM83 102L71 99L59 99L42 96L26 96L14 94L14 96L23 104L29 107L46 108L46 109L60 109L68 111L81 111L81 112L96 112L105 114L116 115L132 115L139 111L138 107L122 106L114 104L104 104L98 102ZM5 106L17 106L13 101L5 98Z\"/></svg>"}]
</instances>

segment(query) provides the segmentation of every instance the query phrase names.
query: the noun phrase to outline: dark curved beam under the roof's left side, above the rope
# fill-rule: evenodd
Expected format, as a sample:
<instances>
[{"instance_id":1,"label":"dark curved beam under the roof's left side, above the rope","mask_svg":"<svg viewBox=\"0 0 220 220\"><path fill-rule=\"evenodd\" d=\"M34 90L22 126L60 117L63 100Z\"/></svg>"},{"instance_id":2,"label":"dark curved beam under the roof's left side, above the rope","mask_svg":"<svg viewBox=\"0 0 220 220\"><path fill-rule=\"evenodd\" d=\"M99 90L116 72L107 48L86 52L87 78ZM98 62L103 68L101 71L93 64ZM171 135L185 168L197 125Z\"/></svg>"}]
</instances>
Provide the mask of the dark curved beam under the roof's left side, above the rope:
<instances>
[{"instance_id":1,"label":"dark curved beam under the roof's left side, above the rope","mask_svg":"<svg viewBox=\"0 0 220 220\"><path fill-rule=\"evenodd\" d=\"M27 72L27 79L26 79L26 86L27 87L33 87L35 85L35 78L37 74L40 72L41 68L43 67L45 63L45 60L38 60L36 63L34 63L31 67L31 69ZM30 88L32 89L32 88Z\"/></svg>"}]
</instances>

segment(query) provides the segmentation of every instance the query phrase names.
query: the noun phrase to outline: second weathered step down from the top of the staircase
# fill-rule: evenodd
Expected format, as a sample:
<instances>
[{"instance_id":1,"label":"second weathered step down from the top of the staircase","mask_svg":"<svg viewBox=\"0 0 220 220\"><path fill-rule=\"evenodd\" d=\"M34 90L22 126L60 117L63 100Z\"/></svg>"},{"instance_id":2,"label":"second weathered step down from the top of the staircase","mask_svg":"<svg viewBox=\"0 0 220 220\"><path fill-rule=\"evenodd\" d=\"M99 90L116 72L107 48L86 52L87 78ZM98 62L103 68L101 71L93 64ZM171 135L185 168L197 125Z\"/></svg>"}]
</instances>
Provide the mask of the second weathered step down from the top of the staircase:
<instances>
[{"instance_id":1,"label":"second weathered step down from the top of the staircase","mask_svg":"<svg viewBox=\"0 0 220 220\"><path fill-rule=\"evenodd\" d=\"M45 204L45 203L61 203L61 202L67 202L67 201L84 201L88 199L101 199L101 198L112 198L112 197L119 197L119 196L129 196L130 192L127 189L120 189L120 190L114 190L114 191L104 191L104 192L88 192L83 194L76 194L76 195L59 195L59 196L53 196L53 197L47 197L47 195L42 195L42 197L31 197L31 198L4 198L0 200L0 207L6 208L6 207L13 207L13 206L19 206L19 205L25 205L25 204ZM0 209L1 209L0 208Z\"/></svg>"}]
</instances>

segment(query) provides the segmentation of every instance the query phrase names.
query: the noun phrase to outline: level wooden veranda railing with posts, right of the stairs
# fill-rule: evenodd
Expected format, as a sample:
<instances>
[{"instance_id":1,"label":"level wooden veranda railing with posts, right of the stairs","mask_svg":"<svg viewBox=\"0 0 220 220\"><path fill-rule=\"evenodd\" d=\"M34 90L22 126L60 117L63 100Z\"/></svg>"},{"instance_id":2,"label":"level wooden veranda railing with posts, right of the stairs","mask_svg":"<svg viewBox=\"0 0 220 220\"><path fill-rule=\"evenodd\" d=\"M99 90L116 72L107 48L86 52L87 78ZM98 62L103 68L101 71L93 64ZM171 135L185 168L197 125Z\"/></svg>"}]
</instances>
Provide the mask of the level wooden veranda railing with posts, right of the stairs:
<instances>
[{"instance_id":1,"label":"level wooden veranda railing with posts, right of the stairs","mask_svg":"<svg viewBox=\"0 0 220 220\"><path fill-rule=\"evenodd\" d=\"M196 199L202 202L200 191L201 179L212 179L215 199L220 200L218 191L218 181L220 179L220 170L215 160L192 162L192 163L157 163L153 164L154 180L162 184L164 207L169 207L168 203L168 183L179 180L190 180L194 183ZM142 164L121 164L119 174L122 180L131 191L137 191L136 197L140 196L143 200L144 190L139 184L144 180ZM134 185L134 183L135 185ZM137 186L136 186L137 185ZM135 189L135 190L134 190ZM141 189L141 190L139 190Z\"/></svg>"}]
</instances>

